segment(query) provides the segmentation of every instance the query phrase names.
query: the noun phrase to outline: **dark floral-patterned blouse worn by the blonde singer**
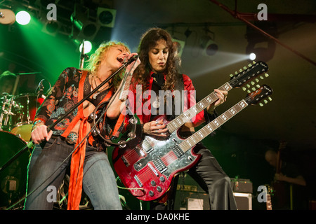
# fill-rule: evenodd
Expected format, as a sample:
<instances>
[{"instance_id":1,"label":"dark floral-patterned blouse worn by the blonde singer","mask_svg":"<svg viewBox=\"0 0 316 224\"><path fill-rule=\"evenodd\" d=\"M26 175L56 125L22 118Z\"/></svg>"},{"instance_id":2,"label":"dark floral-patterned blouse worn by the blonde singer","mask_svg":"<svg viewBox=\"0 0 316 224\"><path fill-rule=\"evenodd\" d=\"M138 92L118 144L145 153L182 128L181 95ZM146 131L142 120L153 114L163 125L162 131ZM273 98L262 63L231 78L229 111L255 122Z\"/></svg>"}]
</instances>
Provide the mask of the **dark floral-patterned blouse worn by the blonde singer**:
<instances>
[{"instance_id":1,"label":"dark floral-patterned blouse worn by the blonde singer","mask_svg":"<svg viewBox=\"0 0 316 224\"><path fill-rule=\"evenodd\" d=\"M36 127L36 125L39 125L39 123L44 123L46 126L50 127L55 123L60 116L65 116L65 113L72 109L84 95L86 95L88 92L90 92L90 84L88 82L88 75L89 73L84 70L79 70L73 67L67 68L60 74L58 80L55 82L55 85L51 88L51 91L48 93L46 99L44 100L43 104L39 106L39 109L37 110L37 114L34 118L33 123L33 129ZM81 80L81 78L84 78L84 80ZM80 85L84 85L81 86ZM83 90L83 92L79 92L79 90ZM100 92L98 96L96 97L96 102L102 102L104 101L104 98L107 94L109 94L109 91L114 92L114 87L111 87L103 92ZM112 97L112 92L110 92L110 97ZM109 102L110 98L107 99L105 102L105 105L102 106L102 108L105 108L107 105L107 102ZM80 107L79 107L80 108ZM67 137L70 128L67 127L70 126L74 118L76 118L78 114L79 108L77 107L72 111L70 114L68 114L64 119L60 121L57 125L51 127L51 130L53 131L53 136L62 136ZM112 133L113 127L117 120L110 120L109 118L105 118L105 123L107 125L104 126L104 130L107 134ZM100 130L102 130L103 125L99 125ZM103 142L100 141L101 138L93 137L93 134L90 135L91 139L89 139L89 143L96 147L105 148L103 145ZM98 137L98 135L96 135Z\"/></svg>"}]
</instances>

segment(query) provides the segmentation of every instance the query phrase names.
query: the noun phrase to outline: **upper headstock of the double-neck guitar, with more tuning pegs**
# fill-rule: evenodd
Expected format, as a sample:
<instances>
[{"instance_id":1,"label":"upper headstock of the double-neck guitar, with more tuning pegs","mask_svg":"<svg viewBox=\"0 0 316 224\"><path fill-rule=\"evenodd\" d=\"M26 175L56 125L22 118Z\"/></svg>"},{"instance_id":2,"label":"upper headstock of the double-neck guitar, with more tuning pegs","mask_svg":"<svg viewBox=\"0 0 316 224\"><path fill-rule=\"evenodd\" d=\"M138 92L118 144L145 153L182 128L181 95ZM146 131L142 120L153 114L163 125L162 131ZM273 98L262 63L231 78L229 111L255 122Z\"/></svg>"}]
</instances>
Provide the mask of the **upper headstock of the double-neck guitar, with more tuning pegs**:
<instances>
[{"instance_id":1,"label":"upper headstock of the double-neck guitar, with more tuning pegs","mask_svg":"<svg viewBox=\"0 0 316 224\"><path fill-rule=\"evenodd\" d=\"M254 62L254 64L249 64L248 67L244 66L243 69L239 70L239 73L236 71L235 76L231 74L228 83L232 87L242 87L251 80L255 80L258 83L260 79L269 76L265 73L266 71L268 71L268 65L265 64L265 62ZM263 75L263 73L265 74ZM254 85L255 82L251 81L251 84ZM247 86L248 85L249 84L247 84ZM250 85L248 87L250 87Z\"/></svg>"}]
</instances>

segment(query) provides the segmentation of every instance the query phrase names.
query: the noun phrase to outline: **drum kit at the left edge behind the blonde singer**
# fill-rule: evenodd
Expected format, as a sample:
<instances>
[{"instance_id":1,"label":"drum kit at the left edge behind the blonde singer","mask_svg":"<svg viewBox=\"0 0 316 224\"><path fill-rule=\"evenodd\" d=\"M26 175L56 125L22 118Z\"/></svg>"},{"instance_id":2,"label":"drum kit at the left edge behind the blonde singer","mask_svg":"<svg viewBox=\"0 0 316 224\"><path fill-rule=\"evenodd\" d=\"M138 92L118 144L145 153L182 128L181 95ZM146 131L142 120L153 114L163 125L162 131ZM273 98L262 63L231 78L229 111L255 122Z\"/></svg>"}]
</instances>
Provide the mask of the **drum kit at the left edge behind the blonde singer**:
<instances>
[{"instance_id":1,"label":"drum kit at the left edge behind the blonde singer","mask_svg":"<svg viewBox=\"0 0 316 224\"><path fill-rule=\"evenodd\" d=\"M44 102L39 94L11 95L0 98L0 164L3 165L31 139L37 108ZM0 209L25 195L29 151L19 156L0 173Z\"/></svg>"}]
</instances>

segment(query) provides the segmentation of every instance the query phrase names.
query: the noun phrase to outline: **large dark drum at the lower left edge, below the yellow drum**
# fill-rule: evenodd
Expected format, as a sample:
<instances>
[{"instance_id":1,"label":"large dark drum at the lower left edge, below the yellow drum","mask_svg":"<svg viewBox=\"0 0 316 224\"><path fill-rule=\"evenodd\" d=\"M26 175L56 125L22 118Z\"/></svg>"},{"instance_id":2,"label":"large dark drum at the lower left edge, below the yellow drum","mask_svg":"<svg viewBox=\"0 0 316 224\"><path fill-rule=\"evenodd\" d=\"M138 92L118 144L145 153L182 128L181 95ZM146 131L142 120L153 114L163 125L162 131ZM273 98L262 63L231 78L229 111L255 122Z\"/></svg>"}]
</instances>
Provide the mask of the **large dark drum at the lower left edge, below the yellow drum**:
<instances>
[{"instance_id":1,"label":"large dark drum at the lower left edge, below the yellow drum","mask_svg":"<svg viewBox=\"0 0 316 224\"><path fill-rule=\"evenodd\" d=\"M10 132L0 131L0 165L26 146L26 142ZM0 173L0 208L8 207L26 193L27 164L30 152L27 149Z\"/></svg>"}]
</instances>

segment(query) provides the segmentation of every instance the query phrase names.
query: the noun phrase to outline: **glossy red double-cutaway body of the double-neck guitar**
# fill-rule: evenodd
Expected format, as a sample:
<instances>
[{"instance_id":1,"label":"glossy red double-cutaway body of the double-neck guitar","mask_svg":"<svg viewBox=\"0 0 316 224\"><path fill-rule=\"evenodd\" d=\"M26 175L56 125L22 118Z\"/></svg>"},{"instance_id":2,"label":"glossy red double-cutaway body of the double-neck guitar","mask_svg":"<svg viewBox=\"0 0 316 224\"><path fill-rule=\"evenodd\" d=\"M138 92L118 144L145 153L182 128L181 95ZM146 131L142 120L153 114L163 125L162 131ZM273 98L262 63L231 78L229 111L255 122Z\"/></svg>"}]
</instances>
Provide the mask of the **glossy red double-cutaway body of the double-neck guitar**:
<instances>
[{"instance_id":1,"label":"glossy red double-cutaway body of the double-neck guitar","mask_svg":"<svg viewBox=\"0 0 316 224\"><path fill-rule=\"evenodd\" d=\"M133 139L125 148L114 148L114 169L124 186L131 188L133 196L143 201L159 200L169 190L173 176L190 169L199 160L192 149L183 153L178 148L183 141L178 132L167 139L149 136Z\"/></svg>"}]
</instances>

